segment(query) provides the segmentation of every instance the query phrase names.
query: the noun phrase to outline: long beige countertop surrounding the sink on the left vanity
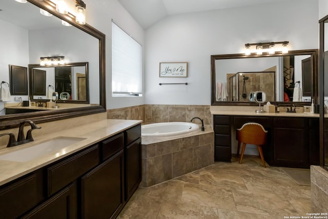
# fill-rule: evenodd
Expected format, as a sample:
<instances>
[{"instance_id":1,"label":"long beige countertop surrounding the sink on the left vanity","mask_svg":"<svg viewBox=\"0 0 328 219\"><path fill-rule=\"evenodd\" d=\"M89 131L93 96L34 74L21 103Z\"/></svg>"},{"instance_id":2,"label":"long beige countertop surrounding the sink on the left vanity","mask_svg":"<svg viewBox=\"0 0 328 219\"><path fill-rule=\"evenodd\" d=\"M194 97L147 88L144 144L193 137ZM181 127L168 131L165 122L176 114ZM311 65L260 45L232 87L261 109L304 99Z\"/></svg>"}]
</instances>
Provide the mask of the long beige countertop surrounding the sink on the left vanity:
<instances>
[{"instance_id":1,"label":"long beige countertop surrounding the sink on the left vanity","mask_svg":"<svg viewBox=\"0 0 328 219\"><path fill-rule=\"evenodd\" d=\"M100 122L90 123L88 125L78 126L70 130L56 131L52 134L45 134L42 137L35 137L34 142L19 145L10 148L4 148L0 150L0 155L6 154L11 151L31 147L38 143L45 142L58 136L66 137L83 137L86 138L83 141L74 143L70 146L60 149L58 151L50 152L46 155L34 158L27 162L13 162L13 161L0 161L0 185L8 183L20 176L23 176L29 172L44 167L50 163L60 160L74 152L77 152L83 148L91 146L99 141L106 139L116 133L129 129L137 124L140 124L140 120L104 120Z\"/></svg>"}]
</instances>

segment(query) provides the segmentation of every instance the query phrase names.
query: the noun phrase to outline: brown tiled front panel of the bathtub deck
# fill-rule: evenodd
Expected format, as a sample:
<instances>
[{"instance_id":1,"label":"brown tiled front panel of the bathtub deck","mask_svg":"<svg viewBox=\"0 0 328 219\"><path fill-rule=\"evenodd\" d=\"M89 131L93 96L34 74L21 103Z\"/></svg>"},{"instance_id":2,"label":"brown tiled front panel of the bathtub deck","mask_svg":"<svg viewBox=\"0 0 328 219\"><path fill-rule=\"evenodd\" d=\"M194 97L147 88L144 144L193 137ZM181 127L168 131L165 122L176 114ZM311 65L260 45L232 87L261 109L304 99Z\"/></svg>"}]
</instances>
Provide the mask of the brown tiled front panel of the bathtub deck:
<instances>
[{"instance_id":1,"label":"brown tiled front panel of the bathtub deck","mask_svg":"<svg viewBox=\"0 0 328 219\"><path fill-rule=\"evenodd\" d=\"M141 142L141 187L150 187L214 164L214 132ZM149 144L148 144L149 143Z\"/></svg>"}]
</instances>

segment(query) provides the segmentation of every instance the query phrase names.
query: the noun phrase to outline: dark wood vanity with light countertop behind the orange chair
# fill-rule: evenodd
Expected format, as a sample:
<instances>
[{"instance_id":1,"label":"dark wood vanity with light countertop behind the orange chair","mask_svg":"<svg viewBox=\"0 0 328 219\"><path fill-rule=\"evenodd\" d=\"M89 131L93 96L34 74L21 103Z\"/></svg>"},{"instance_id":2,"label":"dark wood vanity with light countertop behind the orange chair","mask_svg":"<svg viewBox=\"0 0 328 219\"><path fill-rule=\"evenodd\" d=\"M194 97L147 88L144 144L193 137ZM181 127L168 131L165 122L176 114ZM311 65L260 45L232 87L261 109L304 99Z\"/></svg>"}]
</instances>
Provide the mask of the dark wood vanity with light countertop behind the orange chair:
<instances>
[{"instance_id":1,"label":"dark wood vanity with light countertop behind the orange chair","mask_svg":"<svg viewBox=\"0 0 328 219\"><path fill-rule=\"evenodd\" d=\"M259 123L268 130L262 147L271 166L310 168L319 165L319 115L311 113L255 113L211 110L215 132L215 161L230 162L235 129Z\"/></svg>"}]
</instances>

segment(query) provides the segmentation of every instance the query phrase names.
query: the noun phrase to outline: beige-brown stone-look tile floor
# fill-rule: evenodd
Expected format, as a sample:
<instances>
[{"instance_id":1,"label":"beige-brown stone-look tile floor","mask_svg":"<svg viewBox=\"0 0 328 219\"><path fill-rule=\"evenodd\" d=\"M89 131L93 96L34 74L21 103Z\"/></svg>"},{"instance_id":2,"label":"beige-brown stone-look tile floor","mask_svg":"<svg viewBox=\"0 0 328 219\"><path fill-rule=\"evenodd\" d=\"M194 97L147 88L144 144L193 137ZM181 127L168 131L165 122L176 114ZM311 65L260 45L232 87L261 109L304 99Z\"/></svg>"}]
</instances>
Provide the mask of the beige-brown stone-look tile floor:
<instances>
[{"instance_id":1,"label":"beige-brown stone-look tile floor","mask_svg":"<svg viewBox=\"0 0 328 219\"><path fill-rule=\"evenodd\" d=\"M216 162L149 188L138 188L117 218L284 218L311 212L311 187L297 185L257 156ZM286 218L286 217L285 217ZM297 217L296 217L297 218Z\"/></svg>"}]
</instances>

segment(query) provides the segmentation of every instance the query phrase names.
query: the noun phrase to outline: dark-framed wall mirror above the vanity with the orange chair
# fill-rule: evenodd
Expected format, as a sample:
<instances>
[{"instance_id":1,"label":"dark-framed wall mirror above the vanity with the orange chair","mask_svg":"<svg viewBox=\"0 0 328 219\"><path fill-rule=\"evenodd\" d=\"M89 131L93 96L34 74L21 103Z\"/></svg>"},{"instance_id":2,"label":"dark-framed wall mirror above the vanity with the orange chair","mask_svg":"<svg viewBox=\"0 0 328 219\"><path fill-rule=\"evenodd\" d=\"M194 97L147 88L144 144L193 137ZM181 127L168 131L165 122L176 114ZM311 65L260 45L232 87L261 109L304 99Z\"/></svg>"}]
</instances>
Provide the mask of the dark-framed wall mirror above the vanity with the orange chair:
<instances>
[{"instance_id":1,"label":"dark-framed wall mirror above the vanity with the orange chair","mask_svg":"<svg viewBox=\"0 0 328 219\"><path fill-rule=\"evenodd\" d=\"M317 103L317 52L212 55L211 105L256 105L249 98L256 91L279 105Z\"/></svg>"}]
</instances>

